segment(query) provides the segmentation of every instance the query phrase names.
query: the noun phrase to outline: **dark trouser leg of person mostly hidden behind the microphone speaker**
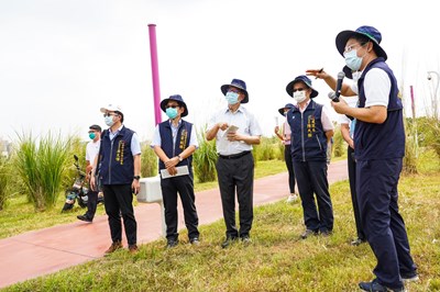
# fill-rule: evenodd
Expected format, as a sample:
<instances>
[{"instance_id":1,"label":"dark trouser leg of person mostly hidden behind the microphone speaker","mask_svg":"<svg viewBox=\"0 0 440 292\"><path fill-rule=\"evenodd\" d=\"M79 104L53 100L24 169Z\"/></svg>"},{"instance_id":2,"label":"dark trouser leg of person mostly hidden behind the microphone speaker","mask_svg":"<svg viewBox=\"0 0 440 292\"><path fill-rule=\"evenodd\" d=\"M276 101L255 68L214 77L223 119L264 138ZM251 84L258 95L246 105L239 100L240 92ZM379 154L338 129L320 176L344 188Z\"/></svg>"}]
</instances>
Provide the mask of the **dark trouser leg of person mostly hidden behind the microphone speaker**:
<instances>
[{"instance_id":1,"label":"dark trouser leg of person mostly hidden behind the microphone speaker","mask_svg":"<svg viewBox=\"0 0 440 292\"><path fill-rule=\"evenodd\" d=\"M362 229L361 212L359 211L359 203L356 196L356 160L354 159L354 149L349 146L346 150L346 160L349 166L349 181L351 202L353 204L354 223L356 224L358 238L366 240L365 234Z\"/></svg>"}]
</instances>

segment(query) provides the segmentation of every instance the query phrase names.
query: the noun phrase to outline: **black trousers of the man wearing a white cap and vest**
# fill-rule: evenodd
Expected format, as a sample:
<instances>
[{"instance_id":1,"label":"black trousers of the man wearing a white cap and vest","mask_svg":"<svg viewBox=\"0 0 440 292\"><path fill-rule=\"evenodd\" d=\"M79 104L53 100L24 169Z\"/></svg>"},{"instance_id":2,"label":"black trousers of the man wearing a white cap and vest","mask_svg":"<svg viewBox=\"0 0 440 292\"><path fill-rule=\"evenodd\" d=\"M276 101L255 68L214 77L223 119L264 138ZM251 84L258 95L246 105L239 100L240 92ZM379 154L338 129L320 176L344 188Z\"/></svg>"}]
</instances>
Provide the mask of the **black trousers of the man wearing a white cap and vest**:
<instances>
[{"instance_id":1,"label":"black trousers of the man wearing a white cap and vest","mask_svg":"<svg viewBox=\"0 0 440 292\"><path fill-rule=\"evenodd\" d=\"M122 215L127 242L129 245L135 245L138 223L134 217L131 184L105 184L103 195L106 198L103 201L106 213L109 216L111 240L113 243L122 240Z\"/></svg>"}]
</instances>

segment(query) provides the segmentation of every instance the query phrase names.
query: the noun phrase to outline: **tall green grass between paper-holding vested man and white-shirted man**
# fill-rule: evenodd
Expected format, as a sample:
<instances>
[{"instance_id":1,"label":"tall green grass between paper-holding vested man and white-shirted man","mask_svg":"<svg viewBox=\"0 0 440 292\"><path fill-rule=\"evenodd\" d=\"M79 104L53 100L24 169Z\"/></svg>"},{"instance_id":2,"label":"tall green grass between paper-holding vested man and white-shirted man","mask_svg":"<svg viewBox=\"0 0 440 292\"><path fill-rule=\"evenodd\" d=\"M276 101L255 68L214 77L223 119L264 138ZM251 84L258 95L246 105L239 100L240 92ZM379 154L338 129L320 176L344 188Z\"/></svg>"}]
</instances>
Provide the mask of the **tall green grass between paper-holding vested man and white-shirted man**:
<instances>
[{"instance_id":1,"label":"tall green grass between paper-holding vested man and white-shirted man","mask_svg":"<svg viewBox=\"0 0 440 292\"><path fill-rule=\"evenodd\" d=\"M194 173L199 182L215 181L217 179L216 141L206 139L206 127L197 133L199 148L193 154Z\"/></svg>"}]
</instances>

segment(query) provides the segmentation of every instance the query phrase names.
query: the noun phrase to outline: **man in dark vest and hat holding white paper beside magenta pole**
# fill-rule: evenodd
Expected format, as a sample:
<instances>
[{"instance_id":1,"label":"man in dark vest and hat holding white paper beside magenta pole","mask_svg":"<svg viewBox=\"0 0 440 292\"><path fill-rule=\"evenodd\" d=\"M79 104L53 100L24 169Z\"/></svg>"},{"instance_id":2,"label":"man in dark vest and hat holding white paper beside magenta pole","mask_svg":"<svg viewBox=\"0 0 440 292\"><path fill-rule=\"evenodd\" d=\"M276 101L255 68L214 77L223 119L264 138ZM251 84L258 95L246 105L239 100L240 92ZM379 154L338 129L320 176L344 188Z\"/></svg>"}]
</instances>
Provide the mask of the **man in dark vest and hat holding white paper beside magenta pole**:
<instances>
[{"instance_id":1,"label":"man in dark vest and hat holding white paper beside magenta pole","mask_svg":"<svg viewBox=\"0 0 440 292\"><path fill-rule=\"evenodd\" d=\"M162 198L165 205L167 247L178 244L177 192L184 206L185 225L189 243L199 245L199 218L194 193L193 153L198 148L196 131L191 123L182 117L188 115L188 108L178 94L161 102L161 109L169 120L158 124L151 146L160 158Z\"/></svg>"}]
</instances>

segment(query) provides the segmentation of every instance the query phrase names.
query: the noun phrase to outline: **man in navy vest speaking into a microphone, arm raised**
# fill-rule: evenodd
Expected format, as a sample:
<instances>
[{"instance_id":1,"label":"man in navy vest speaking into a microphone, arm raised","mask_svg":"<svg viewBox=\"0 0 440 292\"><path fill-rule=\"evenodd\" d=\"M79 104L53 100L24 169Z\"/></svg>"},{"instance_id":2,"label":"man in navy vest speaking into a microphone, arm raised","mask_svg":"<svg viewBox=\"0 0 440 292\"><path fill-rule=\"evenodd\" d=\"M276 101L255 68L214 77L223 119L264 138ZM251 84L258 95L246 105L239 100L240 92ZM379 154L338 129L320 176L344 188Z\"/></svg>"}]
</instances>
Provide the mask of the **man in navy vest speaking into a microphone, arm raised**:
<instances>
[{"instance_id":1,"label":"man in navy vest speaking into a microphone, arm raised","mask_svg":"<svg viewBox=\"0 0 440 292\"><path fill-rule=\"evenodd\" d=\"M343 100L332 102L332 106L338 113L356 119L358 202L363 231L377 259L373 270L376 279L359 285L364 291L405 291L404 282L416 281L418 276L397 203L405 155L403 104L381 41L382 34L373 26L338 34L337 48L355 81L351 87L343 85L341 93L358 94L359 106L350 108ZM336 88L336 79L324 71L308 72Z\"/></svg>"}]
</instances>

